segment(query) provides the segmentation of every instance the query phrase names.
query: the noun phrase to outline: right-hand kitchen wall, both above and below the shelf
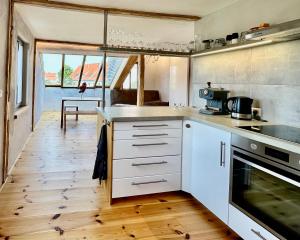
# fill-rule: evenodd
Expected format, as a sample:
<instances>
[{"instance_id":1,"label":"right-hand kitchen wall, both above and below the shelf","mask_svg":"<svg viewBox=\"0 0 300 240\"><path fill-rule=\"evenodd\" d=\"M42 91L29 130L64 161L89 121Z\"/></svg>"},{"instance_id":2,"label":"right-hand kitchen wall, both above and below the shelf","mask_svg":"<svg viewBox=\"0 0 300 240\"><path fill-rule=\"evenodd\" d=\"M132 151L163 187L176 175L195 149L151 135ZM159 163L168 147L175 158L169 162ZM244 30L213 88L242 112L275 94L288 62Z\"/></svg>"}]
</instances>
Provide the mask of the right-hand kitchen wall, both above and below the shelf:
<instances>
[{"instance_id":1,"label":"right-hand kitchen wall, both above and below the shelf","mask_svg":"<svg viewBox=\"0 0 300 240\"><path fill-rule=\"evenodd\" d=\"M196 23L204 38L224 37L261 22L281 23L300 18L299 0L240 0ZM298 125L300 119L300 40L192 59L191 105L203 107L200 88L211 81L232 96L255 99L263 118Z\"/></svg>"}]
</instances>

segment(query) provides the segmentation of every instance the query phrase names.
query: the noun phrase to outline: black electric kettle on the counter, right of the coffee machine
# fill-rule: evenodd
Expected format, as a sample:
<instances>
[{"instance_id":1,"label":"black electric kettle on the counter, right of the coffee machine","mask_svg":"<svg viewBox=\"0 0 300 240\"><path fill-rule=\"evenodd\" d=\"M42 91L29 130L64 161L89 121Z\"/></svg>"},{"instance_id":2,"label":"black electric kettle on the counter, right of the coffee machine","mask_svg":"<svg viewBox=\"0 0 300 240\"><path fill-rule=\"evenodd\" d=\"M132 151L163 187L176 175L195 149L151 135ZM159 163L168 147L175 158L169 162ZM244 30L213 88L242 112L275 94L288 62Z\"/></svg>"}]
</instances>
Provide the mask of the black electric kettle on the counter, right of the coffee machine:
<instances>
[{"instance_id":1,"label":"black electric kettle on the counter, right of the coffee machine","mask_svg":"<svg viewBox=\"0 0 300 240\"><path fill-rule=\"evenodd\" d=\"M251 120L252 103L253 99L248 97L231 97L227 99L227 108L232 118Z\"/></svg>"}]
</instances>

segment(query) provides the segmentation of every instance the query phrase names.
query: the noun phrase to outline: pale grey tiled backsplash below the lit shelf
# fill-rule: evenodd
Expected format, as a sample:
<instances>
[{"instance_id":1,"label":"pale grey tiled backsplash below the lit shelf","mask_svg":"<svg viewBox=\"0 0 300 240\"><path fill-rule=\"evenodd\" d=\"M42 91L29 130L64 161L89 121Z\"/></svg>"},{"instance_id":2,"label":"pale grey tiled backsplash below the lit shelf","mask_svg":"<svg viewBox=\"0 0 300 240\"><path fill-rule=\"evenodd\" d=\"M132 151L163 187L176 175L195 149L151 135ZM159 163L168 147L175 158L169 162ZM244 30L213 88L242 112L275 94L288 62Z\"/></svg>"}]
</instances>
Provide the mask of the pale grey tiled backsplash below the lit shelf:
<instances>
[{"instance_id":1,"label":"pale grey tiled backsplash below the lit shelf","mask_svg":"<svg viewBox=\"0 0 300 240\"><path fill-rule=\"evenodd\" d=\"M300 126L300 40L194 58L190 105L205 105L208 81L253 98L266 120Z\"/></svg>"}]
</instances>

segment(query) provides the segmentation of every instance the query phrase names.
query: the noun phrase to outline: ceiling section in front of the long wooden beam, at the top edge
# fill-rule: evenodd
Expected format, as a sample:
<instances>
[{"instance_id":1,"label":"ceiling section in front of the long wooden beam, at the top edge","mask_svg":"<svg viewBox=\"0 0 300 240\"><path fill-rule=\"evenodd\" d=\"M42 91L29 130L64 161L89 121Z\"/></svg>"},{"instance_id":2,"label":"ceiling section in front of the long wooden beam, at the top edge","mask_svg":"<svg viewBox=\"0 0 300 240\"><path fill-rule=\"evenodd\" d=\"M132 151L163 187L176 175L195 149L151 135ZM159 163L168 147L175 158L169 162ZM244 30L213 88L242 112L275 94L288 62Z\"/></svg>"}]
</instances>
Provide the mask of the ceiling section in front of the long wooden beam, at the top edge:
<instances>
[{"instance_id":1,"label":"ceiling section in front of the long wooden beam, at the top edge","mask_svg":"<svg viewBox=\"0 0 300 240\"><path fill-rule=\"evenodd\" d=\"M56 0L90 6L206 16L238 0Z\"/></svg>"}]
</instances>

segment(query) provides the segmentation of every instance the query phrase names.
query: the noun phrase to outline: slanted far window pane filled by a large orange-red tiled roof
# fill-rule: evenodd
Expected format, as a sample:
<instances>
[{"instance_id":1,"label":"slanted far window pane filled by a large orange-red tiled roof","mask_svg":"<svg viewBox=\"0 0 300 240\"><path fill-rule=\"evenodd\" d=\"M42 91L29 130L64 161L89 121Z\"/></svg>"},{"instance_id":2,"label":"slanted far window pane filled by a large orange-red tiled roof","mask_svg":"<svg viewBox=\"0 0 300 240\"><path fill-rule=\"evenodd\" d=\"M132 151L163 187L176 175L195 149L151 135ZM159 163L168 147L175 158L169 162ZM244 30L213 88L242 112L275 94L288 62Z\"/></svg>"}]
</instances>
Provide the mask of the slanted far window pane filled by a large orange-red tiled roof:
<instances>
[{"instance_id":1,"label":"slanted far window pane filled by a large orange-red tiled roof","mask_svg":"<svg viewBox=\"0 0 300 240\"><path fill-rule=\"evenodd\" d=\"M81 83L86 82L88 87L94 87L101 65L102 56L86 56Z\"/></svg>"}]
</instances>

